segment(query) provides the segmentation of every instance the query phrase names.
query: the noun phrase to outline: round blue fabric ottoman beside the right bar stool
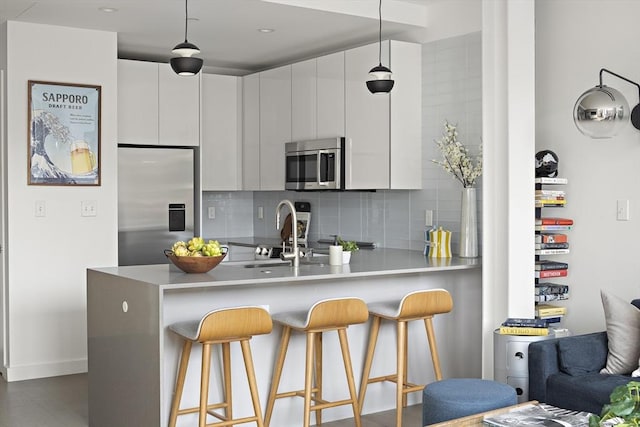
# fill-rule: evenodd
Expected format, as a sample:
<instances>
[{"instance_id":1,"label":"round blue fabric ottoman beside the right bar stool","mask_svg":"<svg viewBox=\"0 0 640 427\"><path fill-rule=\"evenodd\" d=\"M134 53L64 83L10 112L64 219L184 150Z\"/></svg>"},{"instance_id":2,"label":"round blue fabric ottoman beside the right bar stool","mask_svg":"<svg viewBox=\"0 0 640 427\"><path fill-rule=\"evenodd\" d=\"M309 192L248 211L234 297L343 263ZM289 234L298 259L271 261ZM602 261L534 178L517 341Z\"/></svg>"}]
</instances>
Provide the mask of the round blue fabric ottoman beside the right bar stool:
<instances>
[{"instance_id":1,"label":"round blue fabric ottoman beside the right bar stool","mask_svg":"<svg viewBox=\"0 0 640 427\"><path fill-rule=\"evenodd\" d=\"M515 405L516 390L503 383L454 378L427 384L422 392L422 425L440 423Z\"/></svg>"}]
</instances>

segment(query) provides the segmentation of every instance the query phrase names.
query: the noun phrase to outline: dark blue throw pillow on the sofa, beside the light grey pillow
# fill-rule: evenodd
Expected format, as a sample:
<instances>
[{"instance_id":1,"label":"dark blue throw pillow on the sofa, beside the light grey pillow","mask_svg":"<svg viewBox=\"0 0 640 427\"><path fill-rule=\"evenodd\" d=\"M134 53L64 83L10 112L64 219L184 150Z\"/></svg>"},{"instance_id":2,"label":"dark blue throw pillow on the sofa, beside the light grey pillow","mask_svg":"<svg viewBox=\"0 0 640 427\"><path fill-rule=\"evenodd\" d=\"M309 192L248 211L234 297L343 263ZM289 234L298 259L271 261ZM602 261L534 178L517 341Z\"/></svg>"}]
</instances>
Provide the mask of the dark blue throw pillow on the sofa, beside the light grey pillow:
<instances>
[{"instance_id":1,"label":"dark blue throw pillow on the sofa, beside the light grey pillow","mask_svg":"<svg viewBox=\"0 0 640 427\"><path fill-rule=\"evenodd\" d=\"M607 363L607 345L603 340L604 336L559 339L560 370L572 376L599 372Z\"/></svg>"}]
</instances>

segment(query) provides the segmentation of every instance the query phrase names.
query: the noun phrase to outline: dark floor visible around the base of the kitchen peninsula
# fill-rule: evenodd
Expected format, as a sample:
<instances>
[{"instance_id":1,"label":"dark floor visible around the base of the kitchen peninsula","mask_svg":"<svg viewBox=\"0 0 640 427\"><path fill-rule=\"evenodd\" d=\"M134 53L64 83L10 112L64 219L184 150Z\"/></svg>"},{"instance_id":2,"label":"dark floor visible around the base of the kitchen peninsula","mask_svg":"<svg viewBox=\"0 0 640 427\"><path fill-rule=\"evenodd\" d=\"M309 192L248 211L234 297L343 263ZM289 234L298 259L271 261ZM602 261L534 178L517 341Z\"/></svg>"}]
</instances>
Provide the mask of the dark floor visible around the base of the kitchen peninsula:
<instances>
[{"instance_id":1,"label":"dark floor visible around the base of the kitchen peninsula","mask_svg":"<svg viewBox=\"0 0 640 427\"><path fill-rule=\"evenodd\" d=\"M0 379L0 427L87 427L87 387L87 374L11 383ZM419 427L421 422L421 405L404 410L403 426ZM324 427L354 425L353 419L323 424ZM362 417L362 427L394 426L395 411Z\"/></svg>"}]
</instances>

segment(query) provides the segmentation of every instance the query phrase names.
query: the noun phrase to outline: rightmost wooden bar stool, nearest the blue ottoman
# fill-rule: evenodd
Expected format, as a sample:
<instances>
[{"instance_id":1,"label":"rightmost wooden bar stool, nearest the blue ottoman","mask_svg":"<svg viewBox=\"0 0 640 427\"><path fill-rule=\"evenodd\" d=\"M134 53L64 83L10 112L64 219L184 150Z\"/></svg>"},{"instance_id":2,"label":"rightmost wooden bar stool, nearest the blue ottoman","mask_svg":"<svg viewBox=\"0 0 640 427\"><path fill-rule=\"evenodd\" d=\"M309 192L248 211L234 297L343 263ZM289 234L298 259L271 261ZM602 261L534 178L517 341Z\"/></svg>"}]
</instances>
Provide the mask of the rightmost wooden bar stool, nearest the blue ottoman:
<instances>
[{"instance_id":1,"label":"rightmost wooden bar stool, nearest the blue ottoman","mask_svg":"<svg viewBox=\"0 0 640 427\"><path fill-rule=\"evenodd\" d=\"M362 372L362 383L358 404L360 410L364 404L367 385L375 382L391 381L396 383L396 426L402 427L402 408L407 406L407 393L421 391L424 384L418 385L407 381L407 325L412 320L424 320L427 340L431 350L433 369L436 380L442 379L438 347L433 331L433 316L448 313L453 308L451 295L444 289L415 291L405 295L400 301L385 301L369 304L369 314L373 316L369 334L369 346ZM376 349L378 332L382 319L391 320L397 324L397 350L395 374L369 378L373 354Z\"/></svg>"}]
</instances>

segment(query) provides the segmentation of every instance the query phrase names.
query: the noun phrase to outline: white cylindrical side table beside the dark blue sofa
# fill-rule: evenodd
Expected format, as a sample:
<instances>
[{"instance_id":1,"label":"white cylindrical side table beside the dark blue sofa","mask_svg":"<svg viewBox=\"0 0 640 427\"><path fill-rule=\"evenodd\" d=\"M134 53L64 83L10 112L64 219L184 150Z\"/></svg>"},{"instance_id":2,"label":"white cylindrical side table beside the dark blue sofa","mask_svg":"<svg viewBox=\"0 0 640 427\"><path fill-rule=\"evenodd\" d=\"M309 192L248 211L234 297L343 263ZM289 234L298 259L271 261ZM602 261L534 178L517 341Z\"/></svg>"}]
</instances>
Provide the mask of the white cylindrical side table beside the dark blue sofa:
<instances>
[{"instance_id":1,"label":"white cylindrical side table beside the dark blue sofa","mask_svg":"<svg viewBox=\"0 0 640 427\"><path fill-rule=\"evenodd\" d=\"M535 341L555 338L553 330L549 335L502 335L493 332L493 378L516 389L518 403L529 400L529 344Z\"/></svg>"}]
</instances>

